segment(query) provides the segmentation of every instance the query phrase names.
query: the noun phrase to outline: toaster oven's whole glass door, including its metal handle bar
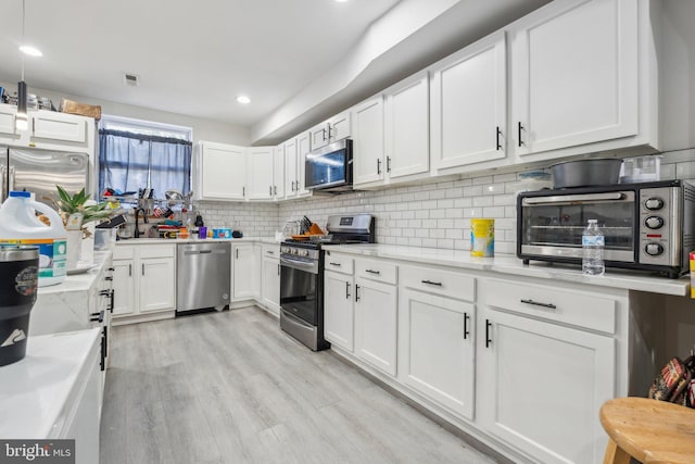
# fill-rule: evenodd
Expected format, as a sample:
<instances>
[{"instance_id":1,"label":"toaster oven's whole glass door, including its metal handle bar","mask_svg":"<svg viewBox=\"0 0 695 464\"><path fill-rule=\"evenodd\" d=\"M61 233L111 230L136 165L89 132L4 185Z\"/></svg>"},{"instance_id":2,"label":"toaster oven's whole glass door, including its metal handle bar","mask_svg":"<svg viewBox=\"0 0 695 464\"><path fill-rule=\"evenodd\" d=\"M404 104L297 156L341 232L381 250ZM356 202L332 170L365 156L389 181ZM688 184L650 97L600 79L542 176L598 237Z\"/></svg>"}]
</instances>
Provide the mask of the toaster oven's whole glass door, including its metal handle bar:
<instances>
[{"instance_id":1,"label":"toaster oven's whole glass door, including its metal handle bar","mask_svg":"<svg viewBox=\"0 0 695 464\"><path fill-rule=\"evenodd\" d=\"M633 191L523 198L521 253L581 258L582 231L597 220L606 260L634 262L636 211Z\"/></svg>"}]
</instances>

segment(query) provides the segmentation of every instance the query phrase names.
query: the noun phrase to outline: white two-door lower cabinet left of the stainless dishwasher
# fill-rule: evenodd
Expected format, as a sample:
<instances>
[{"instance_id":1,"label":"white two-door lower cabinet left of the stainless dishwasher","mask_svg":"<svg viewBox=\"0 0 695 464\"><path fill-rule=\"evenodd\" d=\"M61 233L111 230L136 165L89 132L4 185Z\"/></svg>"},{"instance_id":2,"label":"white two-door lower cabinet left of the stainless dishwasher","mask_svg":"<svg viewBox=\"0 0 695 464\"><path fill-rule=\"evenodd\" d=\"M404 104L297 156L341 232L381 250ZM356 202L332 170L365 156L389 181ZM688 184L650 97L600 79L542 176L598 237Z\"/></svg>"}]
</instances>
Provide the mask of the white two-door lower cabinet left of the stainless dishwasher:
<instances>
[{"instance_id":1,"label":"white two-door lower cabinet left of the stainless dishwasher","mask_svg":"<svg viewBox=\"0 0 695 464\"><path fill-rule=\"evenodd\" d=\"M113 318L149 317L176 309L176 244L117 246Z\"/></svg>"}]
</instances>

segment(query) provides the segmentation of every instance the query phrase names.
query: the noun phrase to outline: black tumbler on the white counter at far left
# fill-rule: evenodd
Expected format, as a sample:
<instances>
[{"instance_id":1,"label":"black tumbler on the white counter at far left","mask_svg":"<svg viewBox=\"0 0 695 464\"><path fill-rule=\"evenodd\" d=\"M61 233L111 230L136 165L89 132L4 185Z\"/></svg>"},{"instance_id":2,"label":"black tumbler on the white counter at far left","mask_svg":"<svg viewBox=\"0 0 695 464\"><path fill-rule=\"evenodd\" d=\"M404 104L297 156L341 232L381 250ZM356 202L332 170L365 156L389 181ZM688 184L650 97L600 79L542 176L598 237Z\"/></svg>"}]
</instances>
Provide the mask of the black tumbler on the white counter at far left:
<instances>
[{"instance_id":1,"label":"black tumbler on the white counter at far left","mask_svg":"<svg viewBox=\"0 0 695 464\"><path fill-rule=\"evenodd\" d=\"M0 247L0 366L26 355L38 276L38 247Z\"/></svg>"}]
</instances>

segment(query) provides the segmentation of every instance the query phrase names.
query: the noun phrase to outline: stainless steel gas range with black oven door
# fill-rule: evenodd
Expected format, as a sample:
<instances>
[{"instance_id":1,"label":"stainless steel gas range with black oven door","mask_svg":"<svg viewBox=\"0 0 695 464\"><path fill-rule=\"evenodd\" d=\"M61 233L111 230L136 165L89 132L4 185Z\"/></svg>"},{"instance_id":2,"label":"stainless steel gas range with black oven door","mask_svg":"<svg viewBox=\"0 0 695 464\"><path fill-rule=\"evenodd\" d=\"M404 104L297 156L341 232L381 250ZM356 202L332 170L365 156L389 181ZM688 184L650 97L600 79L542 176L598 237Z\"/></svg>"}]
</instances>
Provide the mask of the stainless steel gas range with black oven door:
<instances>
[{"instance_id":1,"label":"stainless steel gas range with black oven door","mask_svg":"<svg viewBox=\"0 0 695 464\"><path fill-rule=\"evenodd\" d=\"M324 244L374 243L370 214L329 216L328 235L313 240L286 240L280 246L280 327L314 351L324 339Z\"/></svg>"}]
</instances>

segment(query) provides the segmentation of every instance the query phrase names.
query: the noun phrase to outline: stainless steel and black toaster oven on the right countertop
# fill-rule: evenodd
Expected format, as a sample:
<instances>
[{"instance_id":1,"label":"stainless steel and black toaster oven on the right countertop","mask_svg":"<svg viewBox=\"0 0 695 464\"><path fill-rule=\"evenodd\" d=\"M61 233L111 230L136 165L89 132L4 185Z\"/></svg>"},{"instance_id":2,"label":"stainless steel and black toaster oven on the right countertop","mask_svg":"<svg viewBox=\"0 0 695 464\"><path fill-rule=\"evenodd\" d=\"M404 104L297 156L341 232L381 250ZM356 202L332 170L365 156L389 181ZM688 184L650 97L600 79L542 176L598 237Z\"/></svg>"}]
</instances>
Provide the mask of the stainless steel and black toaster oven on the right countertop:
<instances>
[{"instance_id":1,"label":"stainless steel and black toaster oven on the right countertop","mask_svg":"<svg viewBox=\"0 0 695 464\"><path fill-rule=\"evenodd\" d=\"M694 251L695 186L683 180L519 193L517 256L581 263L582 230L598 220L607 267L677 278Z\"/></svg>"}]
</instances>

